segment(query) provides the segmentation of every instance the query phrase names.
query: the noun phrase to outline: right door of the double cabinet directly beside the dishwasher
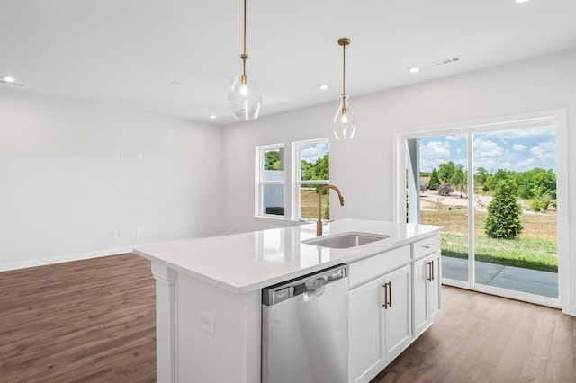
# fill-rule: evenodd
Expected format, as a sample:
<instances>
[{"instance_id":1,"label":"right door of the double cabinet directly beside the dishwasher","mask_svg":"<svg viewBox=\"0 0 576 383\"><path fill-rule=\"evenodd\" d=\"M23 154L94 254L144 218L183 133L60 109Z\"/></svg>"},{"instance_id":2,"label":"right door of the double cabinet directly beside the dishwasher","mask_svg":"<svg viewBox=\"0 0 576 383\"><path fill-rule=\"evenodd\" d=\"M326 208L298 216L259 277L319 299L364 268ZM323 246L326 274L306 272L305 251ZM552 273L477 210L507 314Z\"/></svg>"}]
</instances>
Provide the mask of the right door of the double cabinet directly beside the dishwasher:
<instances>
[{"instance_id":1,"label":"right door of the double cabinet directly beside the dishwasher","mask_svg":"<svg viewBox=\"0 0 576 383\"><path fill-rule=\"evenodd\" d=\"M388 307L384 309L385 361L392 361L412 340L412 269L407 264L384 275Z\"/></svg>"}]
</instances>

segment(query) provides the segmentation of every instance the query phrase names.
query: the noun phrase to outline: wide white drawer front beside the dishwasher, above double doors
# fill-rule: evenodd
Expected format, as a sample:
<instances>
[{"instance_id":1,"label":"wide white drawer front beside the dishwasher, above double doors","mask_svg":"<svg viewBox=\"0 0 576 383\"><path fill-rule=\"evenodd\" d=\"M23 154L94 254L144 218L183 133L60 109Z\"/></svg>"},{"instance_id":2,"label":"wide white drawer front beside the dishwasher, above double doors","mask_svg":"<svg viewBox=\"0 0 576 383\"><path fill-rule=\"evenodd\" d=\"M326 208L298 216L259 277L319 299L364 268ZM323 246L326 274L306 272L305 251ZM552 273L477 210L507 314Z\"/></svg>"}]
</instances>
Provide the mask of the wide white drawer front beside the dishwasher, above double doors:
<instances>
[{"instance_id":1,"label":"wide white drawer front beside the dishwasher, above double doors","mask_svg":"<svg viewBox=\"0 0 576 383\"><path fill-rule=\"evenodd\" d=\"M410 262L410 245L405 245L362 261L350 263L350 289Z\"/></svg>"}]
</instances>

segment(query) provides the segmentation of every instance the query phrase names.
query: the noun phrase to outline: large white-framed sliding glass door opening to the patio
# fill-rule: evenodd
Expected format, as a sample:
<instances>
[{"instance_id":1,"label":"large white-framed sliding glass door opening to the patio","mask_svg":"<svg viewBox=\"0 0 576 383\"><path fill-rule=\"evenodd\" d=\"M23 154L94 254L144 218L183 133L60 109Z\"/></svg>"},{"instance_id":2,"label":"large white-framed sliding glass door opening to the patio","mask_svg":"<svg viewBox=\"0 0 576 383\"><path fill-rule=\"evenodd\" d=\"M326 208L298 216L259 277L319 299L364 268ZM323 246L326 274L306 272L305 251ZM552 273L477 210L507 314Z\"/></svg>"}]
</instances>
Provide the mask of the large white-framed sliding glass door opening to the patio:
<instances>
[{"instance_id":1,"label":"large white-framed sliding glass door opening to the patio","mask_svg":"<svg viewBox=\"0 0 576 383\"><path fill-rule=\"evenodd\" d=\"M422 129L400 136L405 217L445 227L444 283L560 305L562 196L554 122Z\"/></svg>"}]
</instances>

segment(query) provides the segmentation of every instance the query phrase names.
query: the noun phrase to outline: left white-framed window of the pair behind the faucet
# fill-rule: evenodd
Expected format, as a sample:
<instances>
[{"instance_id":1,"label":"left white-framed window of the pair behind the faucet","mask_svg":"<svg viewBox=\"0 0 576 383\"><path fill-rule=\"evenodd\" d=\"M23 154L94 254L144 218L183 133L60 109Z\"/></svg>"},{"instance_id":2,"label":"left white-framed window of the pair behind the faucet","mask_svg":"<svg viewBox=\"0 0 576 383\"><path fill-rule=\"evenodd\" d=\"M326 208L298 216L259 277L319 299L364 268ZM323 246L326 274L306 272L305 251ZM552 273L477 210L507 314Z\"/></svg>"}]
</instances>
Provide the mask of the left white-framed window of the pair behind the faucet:
<instances>
[{"instance_id":1,"label":"left white-framed window of the pair behind the faucet","mask_svg":"<svg viewBox=\"0 0 576 383\"><path fill-rule=\"evenodd\" d=\"M257 147L257 216L284 217L284 144Z\"/></svg>"}]
</instances>

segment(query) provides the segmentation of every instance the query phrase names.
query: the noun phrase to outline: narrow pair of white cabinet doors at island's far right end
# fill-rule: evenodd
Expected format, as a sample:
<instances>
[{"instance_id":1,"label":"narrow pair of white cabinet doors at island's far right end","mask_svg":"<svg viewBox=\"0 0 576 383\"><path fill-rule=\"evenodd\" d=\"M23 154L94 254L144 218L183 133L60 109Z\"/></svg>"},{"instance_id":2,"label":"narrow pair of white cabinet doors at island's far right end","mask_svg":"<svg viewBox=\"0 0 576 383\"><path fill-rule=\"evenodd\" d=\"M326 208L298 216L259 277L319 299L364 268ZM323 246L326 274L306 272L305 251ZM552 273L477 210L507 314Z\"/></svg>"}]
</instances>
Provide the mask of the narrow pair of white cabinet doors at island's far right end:
<instances>
[{"instance_id":1,"label":"narrow pair of white cabinet doors at island's far right end","mask_svg":"<svg viewBox=\"0 0 576 383\"><path fill-rule=\"evenodd\" d=\"M441 272L440 252L420 258L413 267L414 336L418 337L440 315Z\"/></svg>"}]
</instances>

